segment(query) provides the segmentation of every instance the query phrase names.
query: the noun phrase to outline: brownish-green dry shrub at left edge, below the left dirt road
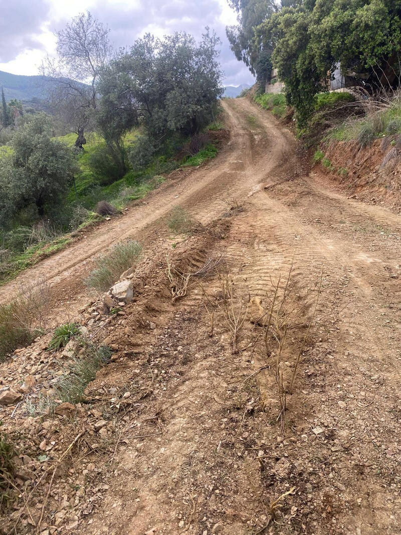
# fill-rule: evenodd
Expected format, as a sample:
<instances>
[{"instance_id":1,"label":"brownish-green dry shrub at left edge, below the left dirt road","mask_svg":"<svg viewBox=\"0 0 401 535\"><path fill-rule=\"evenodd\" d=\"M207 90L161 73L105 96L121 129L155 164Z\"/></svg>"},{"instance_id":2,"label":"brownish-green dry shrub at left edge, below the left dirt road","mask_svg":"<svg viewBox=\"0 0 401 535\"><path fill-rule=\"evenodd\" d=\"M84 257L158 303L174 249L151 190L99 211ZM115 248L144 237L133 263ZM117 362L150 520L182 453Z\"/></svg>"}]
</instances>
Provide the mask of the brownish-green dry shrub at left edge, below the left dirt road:
<instances>
[{"instance_id":1,"label":"brownish-green dry shrub at left edge, below the left dirt road","mask_svg":"<svg viewBox=\"0 0 401 535\"><path fill-rule=\"evenodd\" d=\"M0 305L0 362L43 332L49 286L40 279L21 287L9 304Z\"/></svg>"}]
</instances>

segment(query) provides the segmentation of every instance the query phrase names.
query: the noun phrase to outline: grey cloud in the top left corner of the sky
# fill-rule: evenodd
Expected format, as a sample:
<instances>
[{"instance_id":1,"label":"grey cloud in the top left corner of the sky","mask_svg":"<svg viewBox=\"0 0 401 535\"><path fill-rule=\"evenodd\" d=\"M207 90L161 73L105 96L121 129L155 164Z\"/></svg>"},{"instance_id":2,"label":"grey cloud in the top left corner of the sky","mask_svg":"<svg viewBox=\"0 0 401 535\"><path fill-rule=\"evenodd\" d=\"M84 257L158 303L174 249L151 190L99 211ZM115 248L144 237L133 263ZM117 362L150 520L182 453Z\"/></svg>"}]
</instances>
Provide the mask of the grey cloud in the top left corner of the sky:
<instances>
[{"instance_id":1,"label":"grey cloud in the top left corner of the sky","mask_svg":"<svg viewBox=\"0 0 401 535\"><path fill-rule=\"evenodd\" d=\"M37 35L48 19L49 5L45 0L4 2L1 13L0 62L9 62L27 49L43 48Z\"/></svg>"}]
</instances>

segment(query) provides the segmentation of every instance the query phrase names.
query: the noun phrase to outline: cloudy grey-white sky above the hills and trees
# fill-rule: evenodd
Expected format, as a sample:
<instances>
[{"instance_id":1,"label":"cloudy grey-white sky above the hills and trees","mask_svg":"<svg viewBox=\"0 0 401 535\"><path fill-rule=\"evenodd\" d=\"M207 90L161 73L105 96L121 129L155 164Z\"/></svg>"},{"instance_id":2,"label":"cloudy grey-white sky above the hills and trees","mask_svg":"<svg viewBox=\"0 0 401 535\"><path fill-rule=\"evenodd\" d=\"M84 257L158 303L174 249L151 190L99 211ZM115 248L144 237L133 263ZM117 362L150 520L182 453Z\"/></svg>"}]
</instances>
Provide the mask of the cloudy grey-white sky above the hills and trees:
<instances>
[{"instance_id":1,"label":"cloudy grey-white sky above the hills and trees","mask_svg":"<svg viewBox=\"0 0 401 535\"><path fill-rule=\"evenodd\" d=\"M38 74L42 58L55 51L53 32L86 10L110 27L116 48L129 46L146 32L161 37L184 30L200 37L209 26L222 41L224 84L253 83L248 68L229 48L225 27L236 23L236 14L227 0L10 0L2 3L0 71Z\"/></svg>"}]
</instances>

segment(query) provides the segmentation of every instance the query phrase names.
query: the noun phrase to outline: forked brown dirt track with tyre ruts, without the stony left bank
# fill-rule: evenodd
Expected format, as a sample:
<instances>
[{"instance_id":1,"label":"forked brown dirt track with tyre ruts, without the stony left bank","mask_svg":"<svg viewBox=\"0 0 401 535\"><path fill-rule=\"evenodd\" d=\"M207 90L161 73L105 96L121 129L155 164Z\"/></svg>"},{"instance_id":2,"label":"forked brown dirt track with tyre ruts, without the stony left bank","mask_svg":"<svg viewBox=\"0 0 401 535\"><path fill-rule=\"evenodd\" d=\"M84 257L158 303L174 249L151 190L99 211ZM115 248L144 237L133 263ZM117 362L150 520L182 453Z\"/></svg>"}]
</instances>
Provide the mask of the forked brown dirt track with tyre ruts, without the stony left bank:
<instances>
[{"instance_id":1,"label":"forked brown dirt track with tyre ruts, without the stony left bank","mask_svg":"<svg viewBox=\"0 0 401 535\"><path fill-rule=\"evenodd\" d=\"M236 295L260 297L264 305L272 283L290 269L301 308L321 278L283 429L274 366L258 345L262 329L246 320L236 354L219 311L210 333L204 293L218 291L214 276L174 304L148 307L150 327L146 318L138 327L141 309L133 304L108 331L120 360L99 374L91 395L105 407L113 396L115 410L115 398L131 400L143 385L146 392L123 405L111 453L100 461L82 449L91 467L82 475L85 466L74 464L65 476L68 488L78 482L86 490L70 499L60 484L57 498L55 485L53 503L65 496L75 515L68 531L82 534L400 533L401 220L309 177L292 134L248 100L224 107L230 143L214 162L21 274L0 297L44 274L56 292L78 291L70 303L75 312L86 297L76 281L93 255L134 236L154 254L148 265L155 278L166 242L159 219L172 205L207 226L236 199L242 211L174 254L192 247L192 256L223 255ZM305 325L291 331L283 369L294 369L304 334ZM111 422L113 410L102 410ZM55 524L56 509L46 525Z\"/></svg>"}]
</instances>

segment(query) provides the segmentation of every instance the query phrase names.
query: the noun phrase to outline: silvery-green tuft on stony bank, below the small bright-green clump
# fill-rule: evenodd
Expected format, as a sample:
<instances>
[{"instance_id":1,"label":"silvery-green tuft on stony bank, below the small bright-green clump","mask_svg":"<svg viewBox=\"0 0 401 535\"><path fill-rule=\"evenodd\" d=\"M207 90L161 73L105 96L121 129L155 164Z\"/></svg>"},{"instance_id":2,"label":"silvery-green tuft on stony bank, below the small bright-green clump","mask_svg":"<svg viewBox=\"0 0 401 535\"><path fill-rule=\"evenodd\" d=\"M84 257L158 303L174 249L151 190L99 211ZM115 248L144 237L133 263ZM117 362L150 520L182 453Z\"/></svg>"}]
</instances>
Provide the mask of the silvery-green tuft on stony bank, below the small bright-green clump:
<instances>
[{"instance_id":1,"label":"silvery-green tuft on stony bank, below the small bright-green clump","mask_svg":"<svg viewBox=\"0 0 401 535\"><path fill-rule=\"evenodd\" d=\"M74 359L69 373L57 381L57 397L64 402L78 403L85 388L95 379L96 372L110 362L111 354L112 351L107 346L97 347L84 341L80 357Z\"/></svg>"}]
</instances>

